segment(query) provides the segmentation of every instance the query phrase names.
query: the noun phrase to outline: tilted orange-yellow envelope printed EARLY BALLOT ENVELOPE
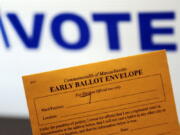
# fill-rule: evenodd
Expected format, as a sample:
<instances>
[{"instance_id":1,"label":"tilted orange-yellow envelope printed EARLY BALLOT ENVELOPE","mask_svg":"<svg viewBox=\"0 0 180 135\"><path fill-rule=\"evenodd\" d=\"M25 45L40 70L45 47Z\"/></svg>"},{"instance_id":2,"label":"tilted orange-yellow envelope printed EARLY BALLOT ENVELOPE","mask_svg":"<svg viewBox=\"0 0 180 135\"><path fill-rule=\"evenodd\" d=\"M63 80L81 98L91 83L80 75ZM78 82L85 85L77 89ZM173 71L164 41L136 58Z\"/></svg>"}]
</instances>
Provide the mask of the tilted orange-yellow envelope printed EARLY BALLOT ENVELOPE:
<instances>
[{"instance_id":1,"label":"tilted orange-yellow envelope printed EARLY BALLOT ENVELOPE","mask_svg":"<svg viewBox=\"0 0 180 135\"><path fill-rule=\"evenodd\" d=\"M33 135L180 135L165 50L23 81Z\"/></svg>"}]
</instances>

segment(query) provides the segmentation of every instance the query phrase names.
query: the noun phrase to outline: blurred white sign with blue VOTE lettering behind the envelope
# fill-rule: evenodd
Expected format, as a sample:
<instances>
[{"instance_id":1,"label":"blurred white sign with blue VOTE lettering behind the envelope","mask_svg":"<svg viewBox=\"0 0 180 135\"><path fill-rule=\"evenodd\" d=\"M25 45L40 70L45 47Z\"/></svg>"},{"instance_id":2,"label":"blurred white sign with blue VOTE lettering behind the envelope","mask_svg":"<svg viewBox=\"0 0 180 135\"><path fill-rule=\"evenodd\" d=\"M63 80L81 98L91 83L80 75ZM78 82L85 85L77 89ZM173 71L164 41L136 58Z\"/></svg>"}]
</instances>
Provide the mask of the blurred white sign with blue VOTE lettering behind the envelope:
<instances>
[{"instance_id":1,"label":"blurred white sign with blue VOTE lettering behind the envelope","mask_svg":"<svg viewBox=\"0 0 180 135\"><path fill-rule=\"evenodd\" d=\"M180 116L179 5L179 0L1 1L0 116L28 117L23 75L159 49L168 52Z\"/></svg>"}]
</instances>

